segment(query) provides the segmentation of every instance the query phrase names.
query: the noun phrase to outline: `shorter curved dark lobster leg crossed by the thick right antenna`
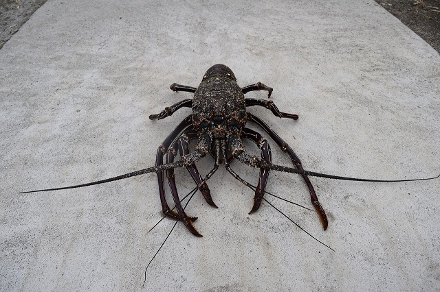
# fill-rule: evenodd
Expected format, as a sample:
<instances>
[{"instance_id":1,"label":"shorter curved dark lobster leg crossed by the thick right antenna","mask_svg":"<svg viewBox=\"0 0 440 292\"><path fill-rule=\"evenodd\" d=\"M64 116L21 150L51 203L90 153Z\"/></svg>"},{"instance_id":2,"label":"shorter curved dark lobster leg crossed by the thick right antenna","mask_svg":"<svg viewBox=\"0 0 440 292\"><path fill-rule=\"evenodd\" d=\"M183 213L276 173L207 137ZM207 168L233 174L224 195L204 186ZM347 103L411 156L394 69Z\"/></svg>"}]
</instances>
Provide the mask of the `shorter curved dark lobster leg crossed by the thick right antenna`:
<instances>
[{"instance_id":1,"label":"shorter curved dark lobster leg crossed by the thick right antenna","mask_svg":"<svg viewBox=\"0 0 440 292\"><path fill-rule=\"evenodd\" d=\"M272 153L270 152L270 146L266 139L263 138L263 136L261 136L261 134L258 132L250 130L246 127L243 128L243 134L245 138L253 141L260 148L261 158L263 158L265 162L272 163ZM249 214L252 214L260 208L267 184L267 178L269 178L269 169L260 169L259 184L256 186L254 196L254 206L252 206L252 210L250 210Z\"/></svg>"}]
</instances>

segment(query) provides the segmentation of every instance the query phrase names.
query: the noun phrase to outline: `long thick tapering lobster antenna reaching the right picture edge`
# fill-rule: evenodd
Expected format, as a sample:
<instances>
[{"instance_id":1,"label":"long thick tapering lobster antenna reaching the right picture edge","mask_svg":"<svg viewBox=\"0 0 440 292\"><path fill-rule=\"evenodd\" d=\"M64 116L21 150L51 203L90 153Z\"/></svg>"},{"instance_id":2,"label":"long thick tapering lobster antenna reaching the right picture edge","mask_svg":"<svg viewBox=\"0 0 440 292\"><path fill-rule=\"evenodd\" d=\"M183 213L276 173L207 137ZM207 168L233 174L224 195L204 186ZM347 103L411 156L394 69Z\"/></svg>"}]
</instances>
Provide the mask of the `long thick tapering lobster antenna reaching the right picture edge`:
<instances>
[{"instance_id":1,"label":"long thick tapering lobster antenna reaching the right picture edge","mask_svg":"<svg viewBox=\"0 0 440 292\"><path fill-rule=\"evenodd\" d=\"M349 178L347 176L330 175L330 174L318 173L314 171L306 171L303 169L294 169L292 167L283 167L281 165L272 165L272 163L267 163L264 160L261 160L258 167L261 169L271 169L275 171L283 171L288 173L298 173L303 175L316 176L319 178L331 178L333 180L353 180L356 182L415 182L418 180L435 180L436 178L440 177L439 174L432 178L412 178L409 180L372 180L368 178Z\"/></svg>"}]
</instances>

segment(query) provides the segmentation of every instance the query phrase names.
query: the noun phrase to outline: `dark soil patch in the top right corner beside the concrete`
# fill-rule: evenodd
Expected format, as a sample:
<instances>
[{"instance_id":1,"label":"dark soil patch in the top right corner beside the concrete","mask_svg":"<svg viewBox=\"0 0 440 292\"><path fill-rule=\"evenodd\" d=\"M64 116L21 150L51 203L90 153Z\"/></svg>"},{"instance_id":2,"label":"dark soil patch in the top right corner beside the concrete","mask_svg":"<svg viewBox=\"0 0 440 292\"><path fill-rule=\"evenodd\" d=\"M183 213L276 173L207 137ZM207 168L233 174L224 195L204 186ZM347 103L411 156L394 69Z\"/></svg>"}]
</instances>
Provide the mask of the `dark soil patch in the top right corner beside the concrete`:
<instances>
[{"instance_id":1,"label":"dark soil patch in the top right corner beside the concrete","mask_svg":"<svg viewBox=\"0 0 440 292\"><path fill-rule=\"evenodd\" d=\"M440 53L440 0L375 0Z\"/></svg>"}]
</instances>

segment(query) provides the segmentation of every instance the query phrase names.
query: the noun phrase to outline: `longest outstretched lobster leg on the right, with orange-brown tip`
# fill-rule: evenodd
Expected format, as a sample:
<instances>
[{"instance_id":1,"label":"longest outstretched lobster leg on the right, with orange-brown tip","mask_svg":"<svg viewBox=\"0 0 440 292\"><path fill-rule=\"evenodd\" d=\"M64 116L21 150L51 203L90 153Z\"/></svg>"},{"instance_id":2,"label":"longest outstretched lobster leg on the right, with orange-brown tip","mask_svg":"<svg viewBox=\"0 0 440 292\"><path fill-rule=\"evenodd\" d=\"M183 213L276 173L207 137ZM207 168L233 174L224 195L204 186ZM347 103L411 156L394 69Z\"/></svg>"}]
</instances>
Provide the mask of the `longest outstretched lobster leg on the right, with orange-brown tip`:
<instances>
[{"instance_id":1,"label":"longest outstretched lobster leg on the right, with orange-brown tip","mask_svg":"<svg viewBox=\"0 0 440 292\"><path fill-rule=\"evenodd\" d=\"M292 163L295 165L297 169L304 170L303 165L301 165L301 160L300 158L298 158L298 156L296 156L294 150L289 145L287 145L287 143L285 143L285 141L283 141L283 139L280 136L278 136L278 134L276 134L274 130L272 130L269 127L269 125L267 125L267 123L261 121L259 117L254 116L254 114L251 114L250 112L248 112L247 114L249 121L252 121L257 125L259 125L260 127L262 127L263 130L265 130L265 132L270 135L270 138L272 138L276 142L276 144L278 144L281 150L289 154ZM311 182L307 177L307 175L302 174L302 176L303 179L305 180L305 183L307 184L307 187L309 188L311 203L314 205L315 210L316 212L318 212L318 215L321 219L322 228L326 230L327 227L329 226L329 223L327 221L327 215L325 215L325 210L322 208L320 202L318 201L318 196L316 195L314 187L311 185Z\"/></svg>"}]
</instances>

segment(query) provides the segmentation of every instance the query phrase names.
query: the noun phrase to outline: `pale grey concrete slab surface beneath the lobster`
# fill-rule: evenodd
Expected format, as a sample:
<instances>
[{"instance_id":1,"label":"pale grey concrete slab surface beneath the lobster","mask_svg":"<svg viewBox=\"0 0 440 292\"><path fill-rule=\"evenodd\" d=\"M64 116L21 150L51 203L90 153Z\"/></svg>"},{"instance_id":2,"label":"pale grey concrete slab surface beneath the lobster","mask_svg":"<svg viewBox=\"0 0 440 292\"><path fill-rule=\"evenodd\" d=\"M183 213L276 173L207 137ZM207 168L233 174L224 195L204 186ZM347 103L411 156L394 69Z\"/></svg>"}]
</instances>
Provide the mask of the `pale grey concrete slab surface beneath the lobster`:
<instances>
[{"instance_id":1,"label":"pale grey concrete slab surface beneath the lobster","mask_svg":"<svg viewBox=\"0 0 440 292\"><path fill-rule=\"evenodd\" d=\"M306 169L440 173L440 56L372 0L50 0L0 50L0 290L438 291L440 180L312 178L327 231L315 212L268 197L332 252L269 204L248 215L253 192L222 168L209 181L219 209L200 195L187 208L204 237L177 224L144 288L174 223L147 234L162 217L154 174L18 194L152 166L190 110L148 114L191 97L168 86L197 86L219 62L241 86L272 86L278 108L299 114L250 108ZM232 166L256 183L257 170ZM176 175L184 195L193 182L184 169ZM296 175L272 172L267 190L311 207Z\"/></svg>"}]
</instances>

